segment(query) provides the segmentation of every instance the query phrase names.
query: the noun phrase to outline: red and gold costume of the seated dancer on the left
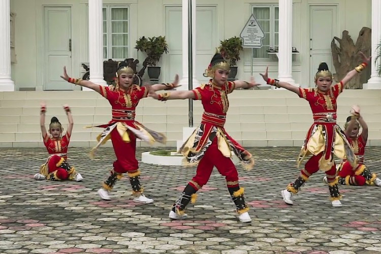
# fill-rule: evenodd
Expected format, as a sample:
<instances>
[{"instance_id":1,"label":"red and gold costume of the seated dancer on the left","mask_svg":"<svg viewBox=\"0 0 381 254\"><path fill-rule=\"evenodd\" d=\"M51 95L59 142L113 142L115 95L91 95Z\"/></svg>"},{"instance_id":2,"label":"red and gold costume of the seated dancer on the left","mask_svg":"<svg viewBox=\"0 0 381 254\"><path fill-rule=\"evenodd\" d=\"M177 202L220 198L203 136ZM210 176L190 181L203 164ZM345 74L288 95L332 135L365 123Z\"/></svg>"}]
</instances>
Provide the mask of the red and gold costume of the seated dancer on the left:
<instances>
[{"instance_id":1,"label":"red and gold costume of the seated dancer on the left","mask_svg":"<svg viewBox=\"0 0 381 254\"><path fill-rule=\"evenodd\" d=\"M47 180L72 180L75 178L75 168L68 163L68 146L70 133L59 139L53 139L48 134L43 137L44 145L48 150L49 157L45 164L40 167L40 174Z\"/></svg>"}]
</instances>

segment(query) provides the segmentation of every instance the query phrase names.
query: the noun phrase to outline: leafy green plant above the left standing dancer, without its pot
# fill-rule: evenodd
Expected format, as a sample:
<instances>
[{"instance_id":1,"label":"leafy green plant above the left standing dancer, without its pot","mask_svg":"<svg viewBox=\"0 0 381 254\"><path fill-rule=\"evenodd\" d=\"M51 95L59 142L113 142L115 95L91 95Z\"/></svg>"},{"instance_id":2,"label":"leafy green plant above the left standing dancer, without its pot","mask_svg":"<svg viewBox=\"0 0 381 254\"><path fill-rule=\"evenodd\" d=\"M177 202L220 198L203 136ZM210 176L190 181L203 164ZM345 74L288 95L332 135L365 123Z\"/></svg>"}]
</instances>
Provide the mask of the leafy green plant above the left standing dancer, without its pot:
<instances>
[{"instance_id":1,"label":"leafy green plant above the left standing dancer, without its pot","mask_svg":"<svg viewBox=\"0 0 381 254\"><path fill-rule=\"evenodd\" d=\"M159 37L151 37L145 38L141 37L136 41L135 48L139 51L145 52L148 58L148 66L156 66L158 60L163 53L168 53L168 44L166 42L166 38Z\"/></svg>"}]
</instances>

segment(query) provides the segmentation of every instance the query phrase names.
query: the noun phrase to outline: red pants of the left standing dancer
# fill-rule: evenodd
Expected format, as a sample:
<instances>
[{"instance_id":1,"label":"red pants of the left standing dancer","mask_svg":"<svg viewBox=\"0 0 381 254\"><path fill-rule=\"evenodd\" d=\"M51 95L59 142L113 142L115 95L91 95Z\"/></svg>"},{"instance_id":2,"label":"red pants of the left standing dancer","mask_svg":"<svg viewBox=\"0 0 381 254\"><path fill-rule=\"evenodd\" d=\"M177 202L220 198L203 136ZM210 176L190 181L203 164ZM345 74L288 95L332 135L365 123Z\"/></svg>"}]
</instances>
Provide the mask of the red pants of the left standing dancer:
<instances>
[{"instance_id":1,"label":"red pants of the left standing dancer","mask_svg":"<svg viewBox=\"0 0 381 254\"><path fill-rule=\"evenodd\" d=\"M126 143L120 137L118 131L114 129L111 132L112 146L116 155L116 161L113 163L114 171L117 173L136 172L139 169L138 161L136 160L136 136L130 131L127 131L130 137L130 142Z\"/></svg>"}]
</instances>

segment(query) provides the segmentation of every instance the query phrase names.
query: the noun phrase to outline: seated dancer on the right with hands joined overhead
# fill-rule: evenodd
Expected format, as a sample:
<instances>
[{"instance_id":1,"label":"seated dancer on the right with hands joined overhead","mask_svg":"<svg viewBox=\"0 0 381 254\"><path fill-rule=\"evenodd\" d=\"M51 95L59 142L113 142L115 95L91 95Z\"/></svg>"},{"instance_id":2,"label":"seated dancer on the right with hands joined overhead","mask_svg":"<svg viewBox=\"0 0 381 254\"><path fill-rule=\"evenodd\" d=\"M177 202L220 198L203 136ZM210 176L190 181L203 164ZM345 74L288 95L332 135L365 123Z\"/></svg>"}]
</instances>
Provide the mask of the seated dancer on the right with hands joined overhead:
<instances>
[{"instance_id":1,"label":"seated dancer on the right with hands joined overhead","mask_svg":"<svg viewBox=\"0 0 381 254\"><path fill-rule=\"evenodd\" d=\"M362 128L361 134L360 126ZM339 167L337 175L339 176L339 184L343 185L376 185L381 186L381 179L376 174L371 173L364 164L365 146L368 140L368 125L360 114L360 107L355 105L351 109L351 116L346 118L344 125L345 135L351 143L352 148L357 157L357 167L352 167L349 162L343 160ZM327 183L327 177L324 177Z\"/></svg>"}]
</instances>

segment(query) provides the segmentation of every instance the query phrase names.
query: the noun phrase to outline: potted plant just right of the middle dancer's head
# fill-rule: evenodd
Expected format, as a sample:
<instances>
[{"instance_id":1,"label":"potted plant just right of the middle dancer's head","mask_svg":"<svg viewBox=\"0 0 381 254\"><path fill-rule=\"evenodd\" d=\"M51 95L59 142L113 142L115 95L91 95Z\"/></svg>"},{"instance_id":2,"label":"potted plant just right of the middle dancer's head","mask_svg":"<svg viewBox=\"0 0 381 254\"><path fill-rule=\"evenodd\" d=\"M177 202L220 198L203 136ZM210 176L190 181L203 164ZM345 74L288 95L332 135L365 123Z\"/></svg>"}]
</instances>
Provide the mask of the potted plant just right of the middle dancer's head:
<instances>
[{"instance_id":1,"label":"potted plant just right of the middle dancer's head","mask_svg":"<svg viewBox=\"0 0 381 254\"><path fill-rule=\"evenodd\" d=\"M239 37L232 37L224 41L220 41L221 45L218 47L221 55L229 62L230 73L229 80L235 80L237 75L237 61L239 58L239 53L243 50L242 40Z\"/></svg>"}]
</instances>

